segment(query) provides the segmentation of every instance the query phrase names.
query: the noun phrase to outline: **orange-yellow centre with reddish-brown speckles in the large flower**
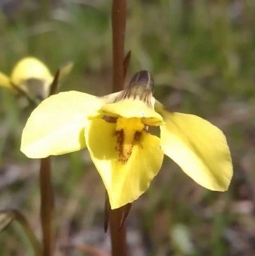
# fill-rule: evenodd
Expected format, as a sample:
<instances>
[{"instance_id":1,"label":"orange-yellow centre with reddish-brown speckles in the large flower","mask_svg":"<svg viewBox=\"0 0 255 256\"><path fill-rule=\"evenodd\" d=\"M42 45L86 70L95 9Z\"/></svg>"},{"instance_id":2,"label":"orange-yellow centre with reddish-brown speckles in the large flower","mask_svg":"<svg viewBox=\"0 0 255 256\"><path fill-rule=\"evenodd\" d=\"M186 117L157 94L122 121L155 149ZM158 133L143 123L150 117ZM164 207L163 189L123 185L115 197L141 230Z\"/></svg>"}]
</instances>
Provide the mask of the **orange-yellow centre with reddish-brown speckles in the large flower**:
<instances>
[{"instance_id":1,"label":"orange-yellow centre with reddish-brown speckles in the large flower","mask_svg":"<svg viewBox=\"0 0 255 256\"><path fill-rule=\"evenodd\" d=\"M145 124L141 118L132 117L117 119L116 132L117 145L115 150L119 152L119 162L126 164L132 154L134 145L139 142Z\"/></svg>"}]
</instances>

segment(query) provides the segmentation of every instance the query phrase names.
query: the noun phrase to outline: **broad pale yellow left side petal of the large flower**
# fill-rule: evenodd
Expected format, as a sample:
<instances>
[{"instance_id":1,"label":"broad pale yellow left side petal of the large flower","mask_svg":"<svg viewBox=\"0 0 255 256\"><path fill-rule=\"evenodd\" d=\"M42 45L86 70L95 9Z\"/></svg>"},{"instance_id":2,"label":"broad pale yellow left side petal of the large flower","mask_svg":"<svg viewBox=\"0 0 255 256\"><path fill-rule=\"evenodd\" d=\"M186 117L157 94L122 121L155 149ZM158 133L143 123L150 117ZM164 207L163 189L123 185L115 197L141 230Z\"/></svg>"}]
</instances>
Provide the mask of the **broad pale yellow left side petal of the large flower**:
<instances>
[{"instance_id":1,"label":"broad pale yellow left side petal of the large flower","mask_svg":"<svg viewBox=\"0 0 255 256\"><path fill-rule=\"evenodd\" d=\"M50 96L29 117L21 151L29 158L45 158L84 148L85 123L100 107L100 98L77 91Z\"/></svg>"}]
</instances>

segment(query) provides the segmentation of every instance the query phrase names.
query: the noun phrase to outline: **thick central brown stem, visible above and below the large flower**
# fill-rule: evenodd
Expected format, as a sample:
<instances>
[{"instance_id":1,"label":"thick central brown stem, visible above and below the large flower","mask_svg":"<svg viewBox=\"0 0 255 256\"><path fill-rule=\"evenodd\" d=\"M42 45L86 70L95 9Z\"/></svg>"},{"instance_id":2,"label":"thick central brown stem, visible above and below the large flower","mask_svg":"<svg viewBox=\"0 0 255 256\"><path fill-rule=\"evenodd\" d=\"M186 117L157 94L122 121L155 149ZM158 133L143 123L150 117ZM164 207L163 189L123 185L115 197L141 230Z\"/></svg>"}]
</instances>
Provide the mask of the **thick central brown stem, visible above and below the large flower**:
<instances>
[{"instance_id":1,"label":"thick central brown stem, visible above and below the large flower","mask_svg":"<svg viewBox=\"0 0 255 256\"><path fill-rule=\"evenodd\" d=\"M113 93L124 88L124 41L126 31L126 0L112 2L112 46L113 46ZM126 224L122 223L123 209L110 210L109 222L112 240L112 256L126 256Z\"/></svg>"}]
</instances>

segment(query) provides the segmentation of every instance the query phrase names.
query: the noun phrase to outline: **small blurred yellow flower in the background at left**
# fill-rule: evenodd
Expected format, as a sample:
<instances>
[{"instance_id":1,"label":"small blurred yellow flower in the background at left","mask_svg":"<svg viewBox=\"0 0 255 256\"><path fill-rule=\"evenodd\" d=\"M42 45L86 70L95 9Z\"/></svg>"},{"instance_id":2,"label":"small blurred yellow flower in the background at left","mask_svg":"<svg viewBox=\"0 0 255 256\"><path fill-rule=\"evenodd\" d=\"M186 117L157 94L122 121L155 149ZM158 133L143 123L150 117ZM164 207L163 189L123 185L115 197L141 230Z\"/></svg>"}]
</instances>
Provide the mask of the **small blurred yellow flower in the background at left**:
<instances>
[{"instance_id":1,"label":"small blurred yellow flower in the background at left","mask_svg":"<svg viewBox=\"0 0 255 256\"><path fill-rule=\"evenodd\" d=\"M61 70L60 80L71 71L72 66L72 63L64 66ZM53 80L54 76L47 66L35 57L25 57L18 61L10 77L0 72L0 86L10 89L16 94L21 90L40 101L47 98Z\"/></svg>"}]
</instances>

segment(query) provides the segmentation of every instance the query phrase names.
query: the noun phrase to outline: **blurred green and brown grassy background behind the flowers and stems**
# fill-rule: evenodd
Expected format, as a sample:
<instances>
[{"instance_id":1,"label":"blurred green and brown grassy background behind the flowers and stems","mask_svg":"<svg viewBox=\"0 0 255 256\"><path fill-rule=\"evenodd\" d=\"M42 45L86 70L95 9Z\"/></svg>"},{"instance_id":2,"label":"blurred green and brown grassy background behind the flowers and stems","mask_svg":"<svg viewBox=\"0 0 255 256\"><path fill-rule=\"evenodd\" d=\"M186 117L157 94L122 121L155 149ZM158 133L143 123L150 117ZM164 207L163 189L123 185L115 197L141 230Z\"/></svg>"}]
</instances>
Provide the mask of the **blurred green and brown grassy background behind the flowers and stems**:
<instances>
[{"instance_id":1,"label":"blurred green and brown grassy background behind the flowers and stems","mask_svg":"<svg viewBox=\"0 0 255 256\"><path fill-rule=\"evenodd\" d=\"M38 57L55 73L74 62L60 91L110 93L110 0L0 1L0 70ZM128 83L148 70L169 109L204 117L224 131L234 176L226 193L194 183L169 158L134 202L129 255L255 255L255 1L129 0ZM20 153L30 110L0 88L0 210L20 209L40 231L39 163ZM110 252L103 232L105 188L87 150L53 158L56 255L91 255L71 243ZM33 255L18 225L0 234L1 256Z\"/></svg>"}]
</instances>

